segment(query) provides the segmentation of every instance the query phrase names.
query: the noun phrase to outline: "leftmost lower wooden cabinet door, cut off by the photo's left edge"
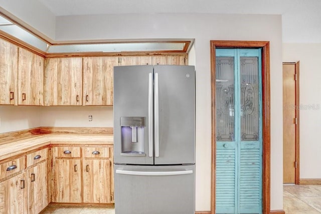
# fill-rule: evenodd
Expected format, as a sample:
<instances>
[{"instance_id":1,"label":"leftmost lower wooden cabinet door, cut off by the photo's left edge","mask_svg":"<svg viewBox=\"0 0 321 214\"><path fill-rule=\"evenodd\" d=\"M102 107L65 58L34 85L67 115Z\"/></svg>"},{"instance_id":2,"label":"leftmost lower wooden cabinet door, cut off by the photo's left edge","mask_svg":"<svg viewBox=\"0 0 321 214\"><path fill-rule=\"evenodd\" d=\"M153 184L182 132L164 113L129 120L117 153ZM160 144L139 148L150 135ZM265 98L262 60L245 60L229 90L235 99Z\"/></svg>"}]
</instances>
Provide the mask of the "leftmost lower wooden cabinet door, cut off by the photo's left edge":
<instances>
[{"instance_id":1,"label":"leftmost lower wooden cabinet door, cut off by the photo's left edge","mask_svg":"<svg viewBox=\"0 0 321 214\"><path fill-rule=\"evenodd\" d=\"M27 172L0 183L0 213L28 213Z\"/></svg>"}]
</instances>

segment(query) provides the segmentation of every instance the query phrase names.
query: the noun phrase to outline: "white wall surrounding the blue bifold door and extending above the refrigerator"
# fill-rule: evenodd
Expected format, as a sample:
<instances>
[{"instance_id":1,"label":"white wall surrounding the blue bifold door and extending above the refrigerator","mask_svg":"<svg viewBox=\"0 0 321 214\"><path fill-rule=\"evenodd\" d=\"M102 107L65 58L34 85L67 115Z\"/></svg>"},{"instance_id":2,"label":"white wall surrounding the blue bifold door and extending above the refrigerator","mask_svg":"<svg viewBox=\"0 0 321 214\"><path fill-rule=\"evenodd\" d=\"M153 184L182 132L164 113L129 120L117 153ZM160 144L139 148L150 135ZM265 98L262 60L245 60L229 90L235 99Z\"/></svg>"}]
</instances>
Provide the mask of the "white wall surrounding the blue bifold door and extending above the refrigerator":
<instances>
[{"instance_id":1,"label":"white wall surrounding the blue bifold door and extending above the refrigerator","mask_svg":"<svg viewBox=\"0 0 321 214\"><path fill-rule=\"evenodd\" d=\"M270 41L271 209L282 209L281 16L123 14L57 17L56 40L195 38L196 210L210 210L210 40ZM68 30L66 30L68 29Z\"/></svg>"}]
</instances>

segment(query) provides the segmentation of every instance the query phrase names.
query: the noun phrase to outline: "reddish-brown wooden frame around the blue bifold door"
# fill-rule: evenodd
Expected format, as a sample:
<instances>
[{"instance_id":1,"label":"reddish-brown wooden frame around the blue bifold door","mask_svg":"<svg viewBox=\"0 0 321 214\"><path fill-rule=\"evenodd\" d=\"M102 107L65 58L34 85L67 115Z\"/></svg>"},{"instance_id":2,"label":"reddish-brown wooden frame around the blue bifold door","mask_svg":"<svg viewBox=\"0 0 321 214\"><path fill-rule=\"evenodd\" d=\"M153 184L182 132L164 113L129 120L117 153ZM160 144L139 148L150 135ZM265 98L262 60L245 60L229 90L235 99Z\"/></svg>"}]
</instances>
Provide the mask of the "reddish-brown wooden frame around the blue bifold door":
<instances>
[{"instance_id":1,"label":"reddish-brown wooden frame around the blue bifold door","mask_svg":"<svg viewBox=\"0 0 321 214\"><path fill-rule=\"evenodd\" d=\"M270 43L268 41L217 41L211 40L211 114L212 114L212 160L211 160L211 213L215 214L216 187L216 48L262 48L262 210L270 213Z\"/></svg>"}]
</instances>

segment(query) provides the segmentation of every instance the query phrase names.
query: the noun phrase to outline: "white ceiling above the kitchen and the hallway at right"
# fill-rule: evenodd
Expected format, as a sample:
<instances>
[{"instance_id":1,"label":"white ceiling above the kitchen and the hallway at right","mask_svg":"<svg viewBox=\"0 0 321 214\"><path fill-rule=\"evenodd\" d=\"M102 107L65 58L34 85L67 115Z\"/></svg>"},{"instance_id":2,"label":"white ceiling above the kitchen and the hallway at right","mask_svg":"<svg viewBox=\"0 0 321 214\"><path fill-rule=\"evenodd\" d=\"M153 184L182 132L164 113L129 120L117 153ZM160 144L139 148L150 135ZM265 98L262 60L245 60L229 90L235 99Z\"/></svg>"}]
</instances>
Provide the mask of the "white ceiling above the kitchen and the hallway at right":
<instances>
[{"instance_id":1,"label":"white ceiling above the kitchen and the hallway at right","mask_svg":"<svg viewBox=\"0 0 321 214\"><path fill-rule=\"evenodd\" d=\"M55 16L132 13L282 15L283 42L321 43L321 0L38 0Z\"/></svg>"}]
</instances>

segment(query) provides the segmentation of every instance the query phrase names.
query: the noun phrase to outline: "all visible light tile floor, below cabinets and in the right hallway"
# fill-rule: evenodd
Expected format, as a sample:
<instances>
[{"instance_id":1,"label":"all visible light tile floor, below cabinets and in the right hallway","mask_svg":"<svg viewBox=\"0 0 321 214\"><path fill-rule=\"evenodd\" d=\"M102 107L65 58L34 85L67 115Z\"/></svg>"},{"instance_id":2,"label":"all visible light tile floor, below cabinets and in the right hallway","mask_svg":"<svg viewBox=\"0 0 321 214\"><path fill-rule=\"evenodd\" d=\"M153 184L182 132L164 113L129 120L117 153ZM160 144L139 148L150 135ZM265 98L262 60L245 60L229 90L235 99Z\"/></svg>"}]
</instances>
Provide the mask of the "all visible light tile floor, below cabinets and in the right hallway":
<instances>
[{"instance_id":1,"label":"all visible light tile floor, below cabinets and in the right hallway","mask_svg":"<svg viewBox=\"0 0 321 214\"><path fill-rule=\"evenodd\" d=\"M283 184L283 209L286 214L320 214L321 185ZM49 205L41 214L114 214L113 206Z\"/></svg>"}]
</instances>

